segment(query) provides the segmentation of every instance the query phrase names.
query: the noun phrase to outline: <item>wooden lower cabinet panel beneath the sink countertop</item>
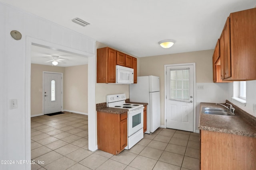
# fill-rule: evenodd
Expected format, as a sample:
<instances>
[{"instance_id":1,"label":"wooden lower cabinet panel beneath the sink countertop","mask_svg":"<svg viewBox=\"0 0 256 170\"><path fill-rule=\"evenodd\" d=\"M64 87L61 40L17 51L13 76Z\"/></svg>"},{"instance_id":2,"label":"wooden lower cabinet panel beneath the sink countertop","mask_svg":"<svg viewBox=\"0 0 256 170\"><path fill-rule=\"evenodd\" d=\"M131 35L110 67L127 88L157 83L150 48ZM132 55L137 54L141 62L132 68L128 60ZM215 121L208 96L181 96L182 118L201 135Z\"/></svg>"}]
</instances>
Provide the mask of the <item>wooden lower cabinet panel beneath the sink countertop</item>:
<instances>
[{"instance_id":1,"label":"wooden lower cabinet panel beneath the sink countertop","mask_svg":"<svg viewBox=\"0 0 256 170\"><path fill-rule=\"evenodd\" d=\"M200 130L201 170L256 170L256 138Z\"/></svg>"}]
</instances>

